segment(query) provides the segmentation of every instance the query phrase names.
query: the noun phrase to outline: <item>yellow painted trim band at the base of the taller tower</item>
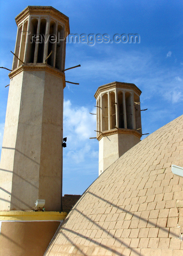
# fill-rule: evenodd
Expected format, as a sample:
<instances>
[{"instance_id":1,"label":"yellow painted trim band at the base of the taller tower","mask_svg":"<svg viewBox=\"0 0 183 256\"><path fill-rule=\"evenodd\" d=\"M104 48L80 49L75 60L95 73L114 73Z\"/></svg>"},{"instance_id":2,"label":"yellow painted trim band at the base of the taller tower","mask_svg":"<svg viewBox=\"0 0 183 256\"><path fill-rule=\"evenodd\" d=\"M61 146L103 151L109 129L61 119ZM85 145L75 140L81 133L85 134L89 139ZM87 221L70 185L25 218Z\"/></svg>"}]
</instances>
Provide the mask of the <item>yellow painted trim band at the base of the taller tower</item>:
<instances>
[{"instance_id":1,"label":"yellow painted trim band at the base of the taller tower","mask_svg":"<svg viewBox=\"0 0 183 256\"><path fill-rule=\"evenodd\" d=\"M0 221L60 221L67 212L56 211L0 211Z\"/></svg>"}]
</instances>

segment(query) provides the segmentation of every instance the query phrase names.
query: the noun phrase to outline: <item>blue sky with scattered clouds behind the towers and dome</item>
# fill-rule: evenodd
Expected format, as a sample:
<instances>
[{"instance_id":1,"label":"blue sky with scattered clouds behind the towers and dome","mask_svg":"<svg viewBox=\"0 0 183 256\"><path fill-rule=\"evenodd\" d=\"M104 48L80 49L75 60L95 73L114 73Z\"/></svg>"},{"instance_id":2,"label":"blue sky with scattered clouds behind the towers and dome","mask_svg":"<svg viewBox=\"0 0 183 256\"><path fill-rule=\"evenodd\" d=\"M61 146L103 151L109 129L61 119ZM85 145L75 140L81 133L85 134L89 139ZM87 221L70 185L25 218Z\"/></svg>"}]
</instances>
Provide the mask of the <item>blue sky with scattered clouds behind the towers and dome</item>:
<instances>
[{"instance_id":1,"label":"blue sky with scattered clouds behind the towers and dome","mask_svg":"<svg viewBox=\"0 0 183 256\"><path fill-rule=\"evenodd\" d=\"M98 177L94 94L103 84L135 83L142 91L142 131L152 133L183 110L183 2L131 0L1 1L0 67L12 67L15 16L28 5L51 5L69 17L72 34L139 34L140 43L68 43L64 89L63 193L82 194ZM8 98L8 71L0 70L0 148ZM142 139L145 136L142 137Z\"/></svg>"}]
</instances>

